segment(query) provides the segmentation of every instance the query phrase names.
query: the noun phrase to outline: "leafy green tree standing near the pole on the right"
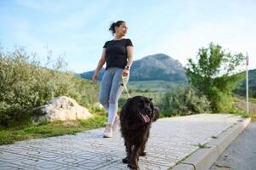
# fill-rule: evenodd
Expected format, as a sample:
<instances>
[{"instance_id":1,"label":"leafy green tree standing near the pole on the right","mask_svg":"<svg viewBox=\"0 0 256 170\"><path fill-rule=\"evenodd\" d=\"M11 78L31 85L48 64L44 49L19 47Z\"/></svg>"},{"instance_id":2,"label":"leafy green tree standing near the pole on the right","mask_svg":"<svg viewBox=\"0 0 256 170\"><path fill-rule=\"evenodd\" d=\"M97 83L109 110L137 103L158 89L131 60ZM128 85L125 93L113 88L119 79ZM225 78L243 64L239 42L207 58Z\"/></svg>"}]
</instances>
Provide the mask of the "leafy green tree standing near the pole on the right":
<instances>
[{"instance_id":1,"label":"leafy green tree standing near the pole on the right","mask_svg":"<svg viewBox=\"0 0 256 170\"><path fill-rule=\"evenodd\" d=\"M230 54L213 42L209 48L200 48L197 62L188 59L186 76L191 85L206 95L215 112L231 108L231 92L242 81L242 74L236 74L244 56Z\"/></svg>"}]
</instances>

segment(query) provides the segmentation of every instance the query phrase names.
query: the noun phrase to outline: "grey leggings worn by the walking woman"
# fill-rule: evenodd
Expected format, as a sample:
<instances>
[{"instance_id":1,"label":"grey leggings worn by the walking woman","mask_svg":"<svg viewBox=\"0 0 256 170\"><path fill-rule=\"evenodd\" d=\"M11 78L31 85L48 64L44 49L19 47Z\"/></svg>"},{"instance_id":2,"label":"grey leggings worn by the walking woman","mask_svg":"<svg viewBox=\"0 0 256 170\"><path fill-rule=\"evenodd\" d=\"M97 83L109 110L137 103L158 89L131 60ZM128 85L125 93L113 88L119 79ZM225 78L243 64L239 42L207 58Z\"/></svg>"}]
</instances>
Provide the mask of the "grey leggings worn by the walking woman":
<instances>
[{"instance_id":1,"label":"grey leggings worn by the walking woman","mask_svg":"<svg viewBox=\"0 0 256 170\"><path fill-rule=\"evenodd\" d=\"M100 104L104 106L105 110L110 112L115 112L111 114L116 114L118 109L118 99L122 94L122 71L121 68L109 68L105 71L102 81L100 82L100 94L99 100ZM128 82L128 77L125 79L125 83ZM109 111L110 109L110 111ZM116 116L116 115L115 115ZM115 117L114 116L114 117ZM108 122L111 123L114 117L109 117Z\"/></svg>"}]
</instances>

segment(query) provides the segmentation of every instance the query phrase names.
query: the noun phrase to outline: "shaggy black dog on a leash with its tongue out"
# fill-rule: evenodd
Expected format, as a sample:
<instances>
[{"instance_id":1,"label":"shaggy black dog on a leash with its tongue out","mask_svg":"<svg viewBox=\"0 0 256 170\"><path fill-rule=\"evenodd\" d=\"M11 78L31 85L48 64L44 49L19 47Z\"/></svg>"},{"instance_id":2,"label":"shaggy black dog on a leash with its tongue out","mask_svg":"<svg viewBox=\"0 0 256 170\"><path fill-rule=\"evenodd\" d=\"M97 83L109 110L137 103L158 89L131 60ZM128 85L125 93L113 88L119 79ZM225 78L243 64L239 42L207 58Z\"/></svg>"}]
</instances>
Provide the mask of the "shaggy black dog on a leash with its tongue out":
<instances>
[{"instance_id":1,"label":"shaggy black dog on a leash with its tongue out","mask_svg":"<svg viewBox=\"0 0 256 170\"><path fill-rule=\"evenodd\" d=\"M150 135L151 122L159 117L152 99L135 96L122 106L120 114L121 133L124 138L127 156L122 159L128 167L138 169L139 156L145 156L145 143Z\"/></svg>"}]
</instances>

